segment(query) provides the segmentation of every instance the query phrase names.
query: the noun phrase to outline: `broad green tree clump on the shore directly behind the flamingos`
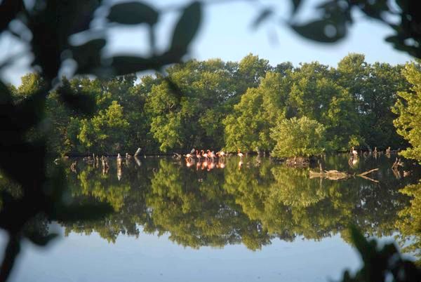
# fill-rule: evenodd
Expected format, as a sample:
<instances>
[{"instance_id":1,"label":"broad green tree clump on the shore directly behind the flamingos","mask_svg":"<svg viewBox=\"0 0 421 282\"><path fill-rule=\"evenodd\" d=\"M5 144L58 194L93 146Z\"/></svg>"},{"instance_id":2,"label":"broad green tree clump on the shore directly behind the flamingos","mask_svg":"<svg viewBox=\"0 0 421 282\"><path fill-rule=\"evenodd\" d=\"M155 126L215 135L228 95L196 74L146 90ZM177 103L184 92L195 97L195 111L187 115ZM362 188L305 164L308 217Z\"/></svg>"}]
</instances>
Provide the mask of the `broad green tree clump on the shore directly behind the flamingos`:
<instances>
[{"instance_id":1,"label":"broad green tree clump on the shore directly behind the flamingos","mask_svg":"<svg viewBox=\"0 0 421 282\"><path fill-rule=\"evenodd\" d=\"M222 120L232 112L243 88L257 85L265 74L267 61L248 55L239 64L191 60L167 69L180 98L163 80L152 87L145 109L151 118L151 132L160 149L223 147ZM237 81L243 83L237 83Z\"/></svg>"}]
</instances>

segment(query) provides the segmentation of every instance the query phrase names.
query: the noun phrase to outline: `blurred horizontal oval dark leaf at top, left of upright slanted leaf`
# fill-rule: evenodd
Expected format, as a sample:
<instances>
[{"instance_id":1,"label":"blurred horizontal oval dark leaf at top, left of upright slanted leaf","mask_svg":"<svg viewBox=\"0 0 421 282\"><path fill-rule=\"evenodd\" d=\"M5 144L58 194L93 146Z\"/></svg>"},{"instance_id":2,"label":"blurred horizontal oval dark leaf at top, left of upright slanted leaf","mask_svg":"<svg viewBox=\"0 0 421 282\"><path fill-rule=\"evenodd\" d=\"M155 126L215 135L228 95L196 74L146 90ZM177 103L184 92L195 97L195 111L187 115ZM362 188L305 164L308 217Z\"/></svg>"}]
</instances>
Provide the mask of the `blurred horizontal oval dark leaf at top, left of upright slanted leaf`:
<instances>
[{"instance_id":1,"label":"blurred horizontal oval dark leaf at top, left of upright slanted leaf","mask_svg":"<svg viewBox=\"0 0 421 282\"><path fill-rule=\"evenodd\" d=\"M124 25L138 25L147 23L155 25L159 13L151 6L140 2L126 2L112 6L109 11L108 20Z\"/></svg>"}]
</instances>

